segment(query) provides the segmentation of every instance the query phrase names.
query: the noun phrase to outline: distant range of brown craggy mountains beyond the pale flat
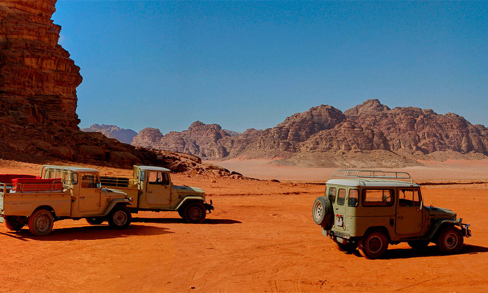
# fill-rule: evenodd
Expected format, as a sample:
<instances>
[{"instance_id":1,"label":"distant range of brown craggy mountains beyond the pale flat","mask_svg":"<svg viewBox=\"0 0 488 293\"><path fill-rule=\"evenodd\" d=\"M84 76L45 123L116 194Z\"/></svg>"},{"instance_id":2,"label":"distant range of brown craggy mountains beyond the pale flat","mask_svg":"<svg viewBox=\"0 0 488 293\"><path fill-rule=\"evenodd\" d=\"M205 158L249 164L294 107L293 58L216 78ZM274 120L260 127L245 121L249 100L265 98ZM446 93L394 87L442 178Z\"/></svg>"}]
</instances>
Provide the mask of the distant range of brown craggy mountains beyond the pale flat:
<instances>
[{"instance_id":1,"label":"distant range of brown craggy mountains beyond the pale flat","mask_svg":"<svg viewBox=\"0 0 488 293\"><path fill-rule=\"evenodd\" d=\"M147 129L147 128L146 128ZM403 167L416 159L486 158L488 129L453 113L431 109L390 109L368 100L344 113L320 105L296 113L273 128L247 129L230 136L219 125L193 123L188 130L162 135L141 131L133 145L183 151L204 159L282 158L285 165L311 167ZM147 136L146 136L147 135ZM148 138L150 137L150 139Z\"/></svg>"}]
</instances>

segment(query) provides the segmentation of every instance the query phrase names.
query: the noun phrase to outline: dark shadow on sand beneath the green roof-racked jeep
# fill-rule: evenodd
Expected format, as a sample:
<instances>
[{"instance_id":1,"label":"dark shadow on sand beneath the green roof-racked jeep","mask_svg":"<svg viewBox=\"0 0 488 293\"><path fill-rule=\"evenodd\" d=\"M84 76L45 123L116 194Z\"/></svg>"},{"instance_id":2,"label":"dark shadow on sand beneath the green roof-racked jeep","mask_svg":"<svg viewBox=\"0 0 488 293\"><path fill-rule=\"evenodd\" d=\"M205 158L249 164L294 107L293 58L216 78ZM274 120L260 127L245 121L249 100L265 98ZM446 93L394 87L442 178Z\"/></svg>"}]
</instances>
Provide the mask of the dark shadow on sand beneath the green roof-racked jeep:
<instances>
[{"instance_id":1,"label":"dark shadow on sand beneath the green roof-racked jeep","mask_svg":"<svg viewBox=\"0 0 488 293\"><path fill-rule=\"evenodd\" d=\"M465 244L463 249L457 254L477 254L488 252L488 247L477 246ZM358 250L353 252L354 255L363 257ZM426 257L426 256L444 256L446 254L441 253L435 245L429 245L426 249L422 251L416 251L413 249L388 249L386 251L385 259L396 259L396 258L414 258L414 257Z\"/></svg>"}]
</instances>

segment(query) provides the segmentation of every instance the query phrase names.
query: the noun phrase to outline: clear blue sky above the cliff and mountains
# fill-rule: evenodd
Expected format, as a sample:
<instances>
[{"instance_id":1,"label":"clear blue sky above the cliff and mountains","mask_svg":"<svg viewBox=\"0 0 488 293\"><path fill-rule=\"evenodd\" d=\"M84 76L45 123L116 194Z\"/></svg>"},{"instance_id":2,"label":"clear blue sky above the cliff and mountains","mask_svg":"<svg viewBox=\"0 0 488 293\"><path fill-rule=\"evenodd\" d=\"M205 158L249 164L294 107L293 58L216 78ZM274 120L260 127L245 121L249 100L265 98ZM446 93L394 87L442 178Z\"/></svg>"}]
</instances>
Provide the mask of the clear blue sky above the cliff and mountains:
<instances>
[{"instance_id":1,"label":"clear blue sky above the cliff and mountains","mask_svg":"<svg viewBox=\"0 0 488 293\"><path fill-rule=\"evenodd\" d=\"M244 131L367 99L488 126L488 1L64 1L81 127Z\"/></svg>"}]
</instances>

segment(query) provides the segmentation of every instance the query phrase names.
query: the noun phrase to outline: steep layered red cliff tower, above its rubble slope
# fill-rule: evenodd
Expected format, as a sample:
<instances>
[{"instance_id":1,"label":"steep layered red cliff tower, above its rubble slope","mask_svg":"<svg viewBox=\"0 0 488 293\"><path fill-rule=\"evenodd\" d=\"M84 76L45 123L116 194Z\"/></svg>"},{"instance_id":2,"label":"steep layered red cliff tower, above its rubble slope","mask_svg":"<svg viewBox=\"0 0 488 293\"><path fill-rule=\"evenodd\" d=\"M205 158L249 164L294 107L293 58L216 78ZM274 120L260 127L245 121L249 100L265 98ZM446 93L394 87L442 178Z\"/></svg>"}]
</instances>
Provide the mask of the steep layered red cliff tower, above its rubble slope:
<instances>
[{"instance_id":1,"label":"steep layered red cliff tower, above its rubble slope","mask_svg":"<svg viewBox=\"0 0 488 293\"><path fill-rule=\"evenodd\" d=\"M50 20L56 0L0 1L0 117L17 125L77 128L80 67Z\"/></svg>"}]
</instances>

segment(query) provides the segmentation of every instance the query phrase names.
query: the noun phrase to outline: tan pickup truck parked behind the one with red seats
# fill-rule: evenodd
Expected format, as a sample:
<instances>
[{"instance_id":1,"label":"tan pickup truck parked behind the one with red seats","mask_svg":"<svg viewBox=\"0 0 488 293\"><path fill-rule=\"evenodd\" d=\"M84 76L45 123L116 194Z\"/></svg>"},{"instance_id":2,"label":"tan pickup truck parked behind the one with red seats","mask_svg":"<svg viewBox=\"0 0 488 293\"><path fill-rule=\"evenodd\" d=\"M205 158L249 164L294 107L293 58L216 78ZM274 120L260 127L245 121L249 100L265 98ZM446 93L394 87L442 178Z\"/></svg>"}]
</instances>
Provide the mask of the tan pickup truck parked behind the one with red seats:
<instances>
[{"instance_id":1,"label":"tan pickup truck parked behind the one with red seats","mask_svg":"<svg viewBox=\"0 0 488 293\"><path fill-rule=\"evenodd\" d=\"M102 187L122 190L134 200L128 206L131 212L178 211L188 223L202 223L207 211L214 207L205 201L202 188L176 186L171 182L170 170L154 166L134 166L132 178L102 176Z\"/></svg>"}]
</instances>

